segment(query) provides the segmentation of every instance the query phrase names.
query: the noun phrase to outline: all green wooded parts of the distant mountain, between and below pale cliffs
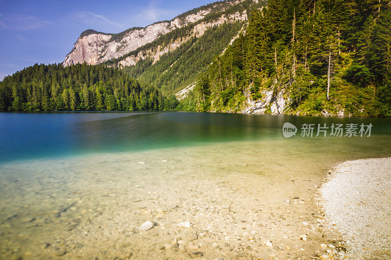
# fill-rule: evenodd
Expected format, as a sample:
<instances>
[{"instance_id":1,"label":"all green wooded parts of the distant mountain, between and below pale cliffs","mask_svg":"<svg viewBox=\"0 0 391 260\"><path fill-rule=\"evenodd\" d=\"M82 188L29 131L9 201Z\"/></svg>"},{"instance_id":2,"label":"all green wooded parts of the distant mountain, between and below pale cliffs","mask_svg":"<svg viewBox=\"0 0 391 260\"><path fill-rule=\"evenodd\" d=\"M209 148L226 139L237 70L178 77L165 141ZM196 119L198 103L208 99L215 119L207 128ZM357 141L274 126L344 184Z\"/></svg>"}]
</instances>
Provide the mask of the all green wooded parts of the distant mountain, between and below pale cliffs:
<instances>
[{"instance_id":1,"label":"all green wooded parts of the distant mountain, between and below pale cliffs","mask_svg":"<svg viewBox=\"0 0 391 260\"><path fill-rule=\"evenodd\" d=\"M226 1L226 3L230 2L232 1ZM243 0L231 7L225 6L224 11L216 8L219 6L217 3L221 5L223 2L203 7L203 9L213 7L213 12L203 19L177 28L123 57L106 61L105 64L118 66L119 62L127 57L145 54L141 55L143 59L138 60L134 66L125 66L124 69L140 81L161 89L164 94L176 93L184 86L193 83L198 74L221 54L245 25L244 20L228 20L227 18L234 14L243 14L246 17L247 13L263 6L265 1ZM227 20L220 24L219 20L222 18ZM210 27L205 26L202 35L197 36L195 28L198 25L214 23L217 24ZM179 47L163 54L157 61L154 60L153 53L176 41L179 42Z\"/></svg>"}]
</instances>

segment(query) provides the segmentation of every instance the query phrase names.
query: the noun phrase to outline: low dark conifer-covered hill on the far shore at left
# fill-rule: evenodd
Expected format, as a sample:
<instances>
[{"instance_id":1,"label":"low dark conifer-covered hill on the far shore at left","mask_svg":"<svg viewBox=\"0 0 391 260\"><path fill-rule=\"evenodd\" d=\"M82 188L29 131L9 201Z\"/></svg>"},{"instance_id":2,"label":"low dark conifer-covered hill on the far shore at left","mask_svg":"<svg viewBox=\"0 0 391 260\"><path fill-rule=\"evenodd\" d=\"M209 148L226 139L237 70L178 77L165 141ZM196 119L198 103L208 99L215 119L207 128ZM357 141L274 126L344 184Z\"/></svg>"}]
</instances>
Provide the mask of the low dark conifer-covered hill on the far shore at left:
<instances>
[{"instance_id":1,"label":"low dark conifer-covered hill on the far shore at left","mask_svg":"<svg viewBox=\"0 0 391 260\"><path fill-rule=\"evenodd\" d=\"M0 111L172 110L177 104L104 65L35 64L0 82Z\"/></svg>"}]
</instances>

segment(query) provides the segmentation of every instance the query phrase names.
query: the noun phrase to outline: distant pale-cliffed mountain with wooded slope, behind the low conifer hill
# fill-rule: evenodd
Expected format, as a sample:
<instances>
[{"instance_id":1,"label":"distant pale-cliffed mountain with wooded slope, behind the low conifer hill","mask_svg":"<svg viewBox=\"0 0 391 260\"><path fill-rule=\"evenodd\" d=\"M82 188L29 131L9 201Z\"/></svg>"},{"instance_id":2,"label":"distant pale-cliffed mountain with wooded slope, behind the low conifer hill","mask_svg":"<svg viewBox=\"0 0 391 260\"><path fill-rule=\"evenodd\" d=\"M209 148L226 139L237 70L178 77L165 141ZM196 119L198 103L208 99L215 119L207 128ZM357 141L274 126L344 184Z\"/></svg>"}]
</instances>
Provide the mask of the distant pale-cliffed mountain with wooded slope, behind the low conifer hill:
<instances>
[{"instance_id":1,"label":"distant pale-cliffed mountain with wooded slope, behind the low conifer hill","mask_svg":"<svg viewBox=\"0 0 391 260\"><path fill-rule=\"evenodd\" d=\"M164 95L176 94L194 84L199 73L245 30L247 14L264 4L258 0L218 1L173 20L119 34L87 30L63 64L103 63L124 69Z\"/></svg>"}]
</instances>

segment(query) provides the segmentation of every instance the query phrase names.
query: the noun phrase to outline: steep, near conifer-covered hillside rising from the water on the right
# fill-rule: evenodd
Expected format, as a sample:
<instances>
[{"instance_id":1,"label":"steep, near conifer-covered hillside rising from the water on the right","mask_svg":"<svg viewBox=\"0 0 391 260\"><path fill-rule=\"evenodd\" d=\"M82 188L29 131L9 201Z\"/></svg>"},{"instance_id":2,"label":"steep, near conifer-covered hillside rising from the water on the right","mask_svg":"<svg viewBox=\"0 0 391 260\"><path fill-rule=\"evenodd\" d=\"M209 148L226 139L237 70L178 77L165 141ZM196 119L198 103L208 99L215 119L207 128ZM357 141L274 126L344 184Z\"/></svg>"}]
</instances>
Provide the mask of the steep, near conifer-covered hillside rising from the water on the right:
<instances>
[{"instance_id":1,"label":"steep, near conifer-covered hillside rising from the water on the right","mask_svg":"<svg viewBox=\"0 0 391 260\"><path fill-rule=\"evenodd\" d=\"M240 112L273 93L285 114L391 116L390 80L390 0L269 0L180 107Z\"/></svg>"}]
</instances>

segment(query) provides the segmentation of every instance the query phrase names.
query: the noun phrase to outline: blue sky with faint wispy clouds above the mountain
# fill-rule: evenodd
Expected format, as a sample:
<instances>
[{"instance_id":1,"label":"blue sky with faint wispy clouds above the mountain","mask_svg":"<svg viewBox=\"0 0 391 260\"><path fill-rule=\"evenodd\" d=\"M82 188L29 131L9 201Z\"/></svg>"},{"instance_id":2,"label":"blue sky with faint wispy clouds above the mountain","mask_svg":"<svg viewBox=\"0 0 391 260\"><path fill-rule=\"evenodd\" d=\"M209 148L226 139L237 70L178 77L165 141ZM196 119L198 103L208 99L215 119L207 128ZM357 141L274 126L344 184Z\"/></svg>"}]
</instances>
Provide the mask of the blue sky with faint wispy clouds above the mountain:
<instances>
[{"instance_id":1,"label":"blue sky with faint wispy clouds above the mountain","mask_svg":"<svg viewBox=\"0 0 391 260\"><path fill-rule=\"evenodd\" d=\"M0 80L35 63L64 61L86 29L118 33L171 20L211 0L0 0Z\"/></svg>"}]
</instances>

